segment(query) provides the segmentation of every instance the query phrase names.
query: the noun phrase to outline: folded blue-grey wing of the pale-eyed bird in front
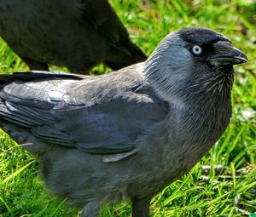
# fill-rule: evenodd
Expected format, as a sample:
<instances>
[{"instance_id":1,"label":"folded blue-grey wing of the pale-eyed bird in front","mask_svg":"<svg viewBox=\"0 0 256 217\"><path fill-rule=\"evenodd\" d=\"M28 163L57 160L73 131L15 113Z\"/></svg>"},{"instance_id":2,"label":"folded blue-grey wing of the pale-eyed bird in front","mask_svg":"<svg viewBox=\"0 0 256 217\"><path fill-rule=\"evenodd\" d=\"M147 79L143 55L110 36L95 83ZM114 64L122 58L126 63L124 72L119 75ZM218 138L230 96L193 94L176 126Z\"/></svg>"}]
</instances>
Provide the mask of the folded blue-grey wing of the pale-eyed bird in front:
<instances>
[{"instance_id":1,"label":"folded blue-grey wing of the pale-eyed bird in front","mask_svg":"<svg viewBox=\"0 0 256 217\"><path fill-rule=\"evenodd\" d=\"M168 110L152 89L138 82L126 89L131 83L122 87L114 75L105 80L113 81L113 86L119 83L118 89L105 87L104 77L35 77L31 73L31 81L24 82L22 75L12 76L14 82L8 81L0 91L0 117L59 146L94 153L130 151Z\"/></svg>"}]
</instances>

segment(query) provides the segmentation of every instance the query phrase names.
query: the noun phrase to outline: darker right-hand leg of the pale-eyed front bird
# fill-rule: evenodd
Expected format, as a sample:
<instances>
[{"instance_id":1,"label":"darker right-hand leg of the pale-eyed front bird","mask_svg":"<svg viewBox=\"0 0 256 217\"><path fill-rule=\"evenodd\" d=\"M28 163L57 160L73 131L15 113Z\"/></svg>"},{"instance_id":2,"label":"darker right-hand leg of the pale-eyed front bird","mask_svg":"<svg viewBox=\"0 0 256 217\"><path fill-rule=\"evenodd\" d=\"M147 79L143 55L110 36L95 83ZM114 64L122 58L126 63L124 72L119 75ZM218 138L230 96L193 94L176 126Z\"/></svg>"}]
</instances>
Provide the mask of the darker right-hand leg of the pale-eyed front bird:
<instances>
[{"instance_id":1,"label":"darker right-hand leg of the pale-eyed front bird","mask_svg":"<svg viewBox=\"0 0 256 217\"><path fill-rule=\"evenodd\" d=\"M151 198L151 196L132 197L132 217L149 217L149 205Z\"/></svg>"}]
</instances>

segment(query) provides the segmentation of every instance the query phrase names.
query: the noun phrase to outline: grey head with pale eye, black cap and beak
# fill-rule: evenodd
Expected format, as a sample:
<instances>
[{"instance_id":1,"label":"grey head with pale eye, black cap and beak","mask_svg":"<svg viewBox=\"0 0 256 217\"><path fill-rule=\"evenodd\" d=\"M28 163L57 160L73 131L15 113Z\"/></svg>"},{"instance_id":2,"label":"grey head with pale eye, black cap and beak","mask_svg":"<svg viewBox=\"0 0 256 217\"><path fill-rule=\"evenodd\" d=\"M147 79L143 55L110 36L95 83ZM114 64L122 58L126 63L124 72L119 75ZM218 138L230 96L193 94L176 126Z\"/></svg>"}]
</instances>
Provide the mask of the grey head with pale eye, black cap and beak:
<instances>
[{"instance_id":1,"label":"grey head with pale eye, black cap and beak","mask_svg":"<svg viewBox=\"0 0 256 217\"><path fill-rule=\"evenodd\" d=\"M144 71L163 99L177 100L193 92L230 92L233 65L246 61L247 56L229 38L190 27L167 35L146 60Z\"/></svg>"}]
</instances>

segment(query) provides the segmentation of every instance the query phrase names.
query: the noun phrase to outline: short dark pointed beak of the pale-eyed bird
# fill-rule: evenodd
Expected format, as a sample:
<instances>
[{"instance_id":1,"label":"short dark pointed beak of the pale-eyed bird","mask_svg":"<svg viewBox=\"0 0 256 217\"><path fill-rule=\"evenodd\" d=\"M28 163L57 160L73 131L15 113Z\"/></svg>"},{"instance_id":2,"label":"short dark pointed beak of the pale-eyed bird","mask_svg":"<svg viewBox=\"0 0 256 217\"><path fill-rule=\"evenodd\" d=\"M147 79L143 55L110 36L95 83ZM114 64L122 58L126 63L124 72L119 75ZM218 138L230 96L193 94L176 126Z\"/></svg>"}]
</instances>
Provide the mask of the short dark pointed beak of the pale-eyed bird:
<instances>
[{"instance_id":1,"label":"short dark pointed beak of the pale-eyed bird","mask_svg":"<svg viewBox=\"0 0 256 217\"><path fill-rule=\"evenodd\" d=\"M247 55L229 42L214 43L213 49L215 54L210 58L212 65L237 65L247 62Z\"/></svg>"}]
</instances>

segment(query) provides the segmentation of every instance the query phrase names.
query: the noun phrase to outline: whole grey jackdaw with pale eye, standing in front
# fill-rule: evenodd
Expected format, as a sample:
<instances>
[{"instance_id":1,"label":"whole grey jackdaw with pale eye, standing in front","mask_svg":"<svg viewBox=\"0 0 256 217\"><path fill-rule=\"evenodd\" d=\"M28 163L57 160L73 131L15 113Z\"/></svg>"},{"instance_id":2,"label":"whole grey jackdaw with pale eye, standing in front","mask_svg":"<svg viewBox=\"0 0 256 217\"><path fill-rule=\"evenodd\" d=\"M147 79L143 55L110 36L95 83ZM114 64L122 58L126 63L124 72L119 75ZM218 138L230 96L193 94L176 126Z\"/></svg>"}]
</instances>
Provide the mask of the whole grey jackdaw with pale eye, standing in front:
<instances>
[{"instance_id":1,"label":"whole grey jackdaw with pale eye, standing in front","mask_svg":"<svg viewBox=\"0 0 256 217\"><path fill-rule=\"evenodd\" d=\"M148 217L151 198L224 133L233 65L246 61L224 35L186 28L107 75L1 75L1 127L39 153L46 186L83 217L127 198L133 217Z\"/></svg>"}]
</instances>

